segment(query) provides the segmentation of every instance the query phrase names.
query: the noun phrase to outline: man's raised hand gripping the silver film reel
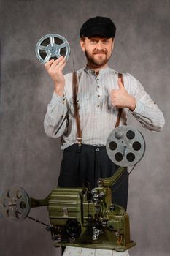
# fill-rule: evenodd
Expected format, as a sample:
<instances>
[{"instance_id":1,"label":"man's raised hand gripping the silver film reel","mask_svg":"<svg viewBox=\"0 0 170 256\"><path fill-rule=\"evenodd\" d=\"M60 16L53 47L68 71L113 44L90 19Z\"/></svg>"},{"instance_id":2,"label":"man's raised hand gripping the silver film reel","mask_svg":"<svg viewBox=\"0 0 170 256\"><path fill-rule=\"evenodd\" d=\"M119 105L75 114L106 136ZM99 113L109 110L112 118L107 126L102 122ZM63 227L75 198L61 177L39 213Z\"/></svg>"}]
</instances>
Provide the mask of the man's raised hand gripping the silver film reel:
<instances>
[{"instance_id":1,"label":"man's raised hand gripping the silver film reel","mask_svg":"<svg viewBox=\"0 0 170 256\"><path fill-rule=\"evenodd\" d=\"M63 68L66 66L66 59L61 56L54 60L51 59L45 64L48 74L52 78L55 86L55 92L59 96L63 96L63 89L65 86L65 80L63 77Z\"/></svg>"}]
</instances>

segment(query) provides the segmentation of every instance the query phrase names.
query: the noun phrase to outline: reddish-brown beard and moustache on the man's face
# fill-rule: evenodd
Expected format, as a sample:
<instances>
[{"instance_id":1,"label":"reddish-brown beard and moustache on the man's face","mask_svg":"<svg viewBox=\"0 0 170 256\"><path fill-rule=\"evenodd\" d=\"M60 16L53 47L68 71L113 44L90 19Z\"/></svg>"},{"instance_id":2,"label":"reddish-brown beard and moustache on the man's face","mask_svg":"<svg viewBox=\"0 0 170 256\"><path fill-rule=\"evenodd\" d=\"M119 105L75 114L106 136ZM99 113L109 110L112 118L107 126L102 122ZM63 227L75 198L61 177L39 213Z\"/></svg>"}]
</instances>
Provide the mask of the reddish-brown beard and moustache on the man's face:
<instances>
[{"instance_id":1,"label":"reddish-brown beard and moustache on the man's face","mask_svg":"<svg viewBox=\"0 0 170 256\"><path fill-rule=\"evenodd\" d=\"M99 55L100 54L100 55ZM107 64L110 56L108 57L107 50L95 50L92 54L85 50L85 56L90 64L96 67L101 67Z\"/></svg>"}]
</instances>

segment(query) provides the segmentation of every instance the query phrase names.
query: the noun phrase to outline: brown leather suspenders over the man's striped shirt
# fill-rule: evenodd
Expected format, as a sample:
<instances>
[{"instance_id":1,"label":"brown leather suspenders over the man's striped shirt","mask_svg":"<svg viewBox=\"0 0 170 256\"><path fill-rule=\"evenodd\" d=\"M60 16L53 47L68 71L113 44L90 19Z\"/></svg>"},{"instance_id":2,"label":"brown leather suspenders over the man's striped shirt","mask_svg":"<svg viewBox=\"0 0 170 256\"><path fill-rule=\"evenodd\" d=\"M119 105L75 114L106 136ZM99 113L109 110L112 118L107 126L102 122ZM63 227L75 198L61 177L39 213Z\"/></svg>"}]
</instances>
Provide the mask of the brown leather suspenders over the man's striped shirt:
<instances>
[{"instance_id":1,"label":"brown leather suspenders over the man's striped shirt","mask_svg":"<svg viewBox=\"0 0 170 256\"><path fill-rule=\"evenodd\" d=\"M121 73L118 73L118 78L121 78L121 81L123 83L123 75ZM80 116L79 116L79 106L77 104L77 91L78 91L78 85L77 85L77 72L73 72L72 76L72 85L73 85L73 105L74 105L74 117L76 119L76 127L77 127L77 141L79 145L82 143L82 130L80 127ZM124 85L124 83L123 83ZM117 121L115 124L115 128L120 125L120 118L122 115L123 108L118 109L117 114Z\"/></svg>"}]
</instances>

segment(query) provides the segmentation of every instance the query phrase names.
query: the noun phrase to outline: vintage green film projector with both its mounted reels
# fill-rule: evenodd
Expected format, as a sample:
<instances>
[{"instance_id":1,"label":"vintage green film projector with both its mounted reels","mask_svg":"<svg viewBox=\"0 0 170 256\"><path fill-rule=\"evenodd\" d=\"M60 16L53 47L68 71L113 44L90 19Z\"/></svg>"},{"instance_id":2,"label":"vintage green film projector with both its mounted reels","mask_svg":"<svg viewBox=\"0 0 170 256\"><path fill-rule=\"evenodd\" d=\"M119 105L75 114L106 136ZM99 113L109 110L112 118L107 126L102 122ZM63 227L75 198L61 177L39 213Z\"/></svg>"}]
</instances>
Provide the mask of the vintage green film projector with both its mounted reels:
<instances>
[{"instance_id":1,"label":"vintage green film projector with both its mounted reels","mask_svg":"<svg viewBox=\"0 0 170 256\"><path fill-rule=\"evenodd\" d=\"M41 200L29 197L21 187L9 187L1 195L1 214L6 219L22 221L29 217L31 208L47 206L50 225L46 229L55 240L55 246L124 252L136 243L131 241L128 214L121 206L114 204L111 186L128 166L136 165L142 159L144 150L144 138L137 129L117 127L107 139L107 154L112 162L120 166L113 176L99 179L98 187L92 190L57 187Z\"/></svg>"}]
</instances>

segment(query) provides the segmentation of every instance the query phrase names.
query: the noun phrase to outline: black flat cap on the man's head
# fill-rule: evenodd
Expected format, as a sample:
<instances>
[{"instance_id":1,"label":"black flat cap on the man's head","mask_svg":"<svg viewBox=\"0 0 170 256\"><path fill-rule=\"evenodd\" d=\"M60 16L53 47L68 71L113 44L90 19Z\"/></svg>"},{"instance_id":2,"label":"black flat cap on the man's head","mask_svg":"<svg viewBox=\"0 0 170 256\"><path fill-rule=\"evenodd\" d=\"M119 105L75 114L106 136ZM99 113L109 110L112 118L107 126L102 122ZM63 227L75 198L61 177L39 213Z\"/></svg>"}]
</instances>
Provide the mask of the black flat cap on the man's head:
<instances>
[{"instance_id":1,"label":"black flat cap on the man's head","mask_svg":"<svg viewBox=\"0 0 170 256\"><path fill-rule=\"evenodd\" d=\"M102 36L115 37L116 27L110 18L107 17L93 17L85 21L80 29L80 37Z\"/></svg>"}]
</instances>

